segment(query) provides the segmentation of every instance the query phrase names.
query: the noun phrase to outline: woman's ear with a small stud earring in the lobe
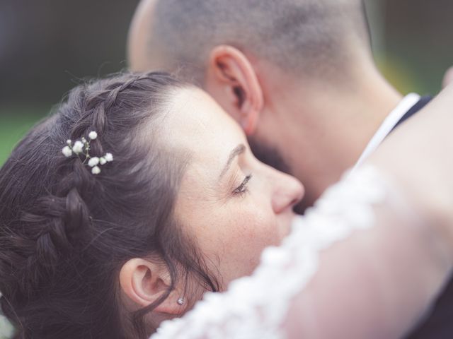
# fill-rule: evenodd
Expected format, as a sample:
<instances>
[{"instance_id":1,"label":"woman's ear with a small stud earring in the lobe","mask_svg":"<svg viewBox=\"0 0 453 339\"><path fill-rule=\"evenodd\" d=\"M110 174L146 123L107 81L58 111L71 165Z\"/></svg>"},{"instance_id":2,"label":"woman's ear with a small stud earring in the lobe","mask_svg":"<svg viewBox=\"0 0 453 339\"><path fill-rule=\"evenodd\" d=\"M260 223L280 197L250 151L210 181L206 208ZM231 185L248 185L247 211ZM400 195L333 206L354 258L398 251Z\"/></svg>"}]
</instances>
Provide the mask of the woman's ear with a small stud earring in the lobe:
<instances>
[{"instance_id":1,"label":"woman's ear with a small stud earring in the lobe","mask_svg":"<svg viewBox=\"0 0 453 339\"><path fill-rule=\"evenodd\" d=\"M163 264L152 263L142 258L133 258L125 263L120 270L120 286L122 292L139 307L147 307L159 300L171 285L170 273ZM178 289L161 302L154 311L178 315L183 312L185 304L178 304L183 297Z\"/></svg>"}]
</instances>

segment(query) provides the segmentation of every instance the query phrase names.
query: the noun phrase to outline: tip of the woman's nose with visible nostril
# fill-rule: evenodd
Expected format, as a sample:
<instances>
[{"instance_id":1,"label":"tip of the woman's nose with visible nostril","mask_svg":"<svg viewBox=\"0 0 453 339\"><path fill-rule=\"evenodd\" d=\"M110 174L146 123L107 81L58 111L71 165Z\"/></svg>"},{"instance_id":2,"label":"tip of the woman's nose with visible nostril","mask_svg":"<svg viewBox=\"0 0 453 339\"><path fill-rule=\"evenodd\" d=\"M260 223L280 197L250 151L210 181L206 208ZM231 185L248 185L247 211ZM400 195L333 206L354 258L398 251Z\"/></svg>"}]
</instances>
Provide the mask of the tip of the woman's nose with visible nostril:
<instances>
[{"instance_id":1,"label":"tip of the woman's nose with visible nostril","mask_svg":"<svg viewBox=\"0 0 453 339\"><path fill-rule=\"evenodd\" d=\"M299 203L304 197L304 191L302 183L290 175L280 174L279 177L275 177L272 197L274 213L282 213Z\"/></svg>"}]
</instances>

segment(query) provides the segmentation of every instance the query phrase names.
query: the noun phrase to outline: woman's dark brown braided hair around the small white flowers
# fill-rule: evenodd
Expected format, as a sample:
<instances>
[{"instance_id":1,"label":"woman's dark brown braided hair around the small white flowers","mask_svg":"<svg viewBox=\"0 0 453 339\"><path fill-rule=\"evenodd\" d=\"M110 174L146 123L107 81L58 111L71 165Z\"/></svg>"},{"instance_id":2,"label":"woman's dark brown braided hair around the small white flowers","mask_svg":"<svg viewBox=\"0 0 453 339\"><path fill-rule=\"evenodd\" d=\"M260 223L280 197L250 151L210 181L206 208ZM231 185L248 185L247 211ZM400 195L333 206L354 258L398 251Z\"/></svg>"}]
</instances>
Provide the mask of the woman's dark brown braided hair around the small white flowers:
<instances>
[{"instance_id":1,"label":"woman's dark brown braided hair around the small white flowers","mask_svg":"<svg viewBox=\"0 0 453 339\"><path fill-rule=\"evenodd\" d=\"M217 290L172 218L187 161L153 137L152 122L184 86L166 73L81 85L0 169L0 306L16 338L147 338L143 316L176 279L193 274ZM61 153L68 138L90 131L98 133L90 154L115 156L96 176L80 157ZM131 333L117 277L130 258L149 256L166 263L172 284L130 315Z\"/></svg>"}]
</instances>

